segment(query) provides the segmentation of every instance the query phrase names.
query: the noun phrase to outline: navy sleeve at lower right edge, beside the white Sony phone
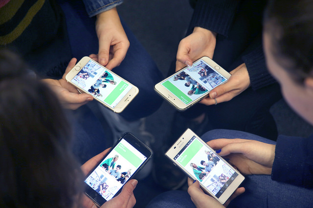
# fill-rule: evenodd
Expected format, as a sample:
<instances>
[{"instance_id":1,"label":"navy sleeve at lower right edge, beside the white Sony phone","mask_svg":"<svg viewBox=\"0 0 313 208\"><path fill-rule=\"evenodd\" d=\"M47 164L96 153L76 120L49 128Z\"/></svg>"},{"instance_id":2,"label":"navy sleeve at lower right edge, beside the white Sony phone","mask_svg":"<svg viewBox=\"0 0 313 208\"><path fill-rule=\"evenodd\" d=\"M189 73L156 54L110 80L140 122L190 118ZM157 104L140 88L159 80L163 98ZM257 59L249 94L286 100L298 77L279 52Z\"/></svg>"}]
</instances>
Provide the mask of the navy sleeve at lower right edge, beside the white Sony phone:
<instances>
[{"instance_id":1,"label":"navy sleeve at lower right edge, beside the white Sony phone","mask_svg":"<svg viewBox=\"0 0 313 208\"><path fill-rule=\"evenodd\" d=\"M279 136L271 178L313 188L313 135L308 138Z\"/></svg>"}]
</instances>

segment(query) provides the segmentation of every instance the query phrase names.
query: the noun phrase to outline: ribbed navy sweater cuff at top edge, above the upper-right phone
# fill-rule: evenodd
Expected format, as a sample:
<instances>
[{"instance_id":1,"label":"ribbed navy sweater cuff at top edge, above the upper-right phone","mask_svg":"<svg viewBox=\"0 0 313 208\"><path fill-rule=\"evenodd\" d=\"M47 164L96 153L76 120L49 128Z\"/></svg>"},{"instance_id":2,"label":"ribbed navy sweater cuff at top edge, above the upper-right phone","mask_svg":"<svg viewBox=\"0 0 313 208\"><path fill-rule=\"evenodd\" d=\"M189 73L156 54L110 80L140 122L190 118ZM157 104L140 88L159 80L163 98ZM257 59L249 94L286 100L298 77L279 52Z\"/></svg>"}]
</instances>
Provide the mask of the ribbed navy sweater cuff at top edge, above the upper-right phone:
<instances>
[{"instance_id":1,"label":"ribbed navy sweater cuff at top edge, above the upper-right phone","mask_svg":"<svg viewBox=\"0 0 313 208\"><path fill-rule=\"evenodd\" d=\"M198 0L189 30L202 27L227 37L237 6L236 0Z\"/></svg>"}]
</instances>

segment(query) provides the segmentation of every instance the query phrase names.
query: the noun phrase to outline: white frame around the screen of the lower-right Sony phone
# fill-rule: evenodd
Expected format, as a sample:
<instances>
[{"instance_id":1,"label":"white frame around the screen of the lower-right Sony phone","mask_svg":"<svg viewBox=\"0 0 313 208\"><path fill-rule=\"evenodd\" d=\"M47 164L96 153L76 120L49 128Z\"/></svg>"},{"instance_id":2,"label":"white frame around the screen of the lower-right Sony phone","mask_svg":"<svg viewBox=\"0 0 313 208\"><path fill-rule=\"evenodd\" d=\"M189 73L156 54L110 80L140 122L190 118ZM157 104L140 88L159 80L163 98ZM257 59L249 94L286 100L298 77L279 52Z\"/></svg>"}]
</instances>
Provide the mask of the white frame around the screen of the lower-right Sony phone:
<instances>
[{"instance_id":1,"label":"white frame around the screen of the lower-right Sony phone","mask_svg":"<svg viewBox=\"0 0 313 208\"><path fill-rule=\"evenodd\" d=\"M169 158L174 165L176 165L177 167L179 167L181 170L183 170L185 172L185 174L188 175L188 177L192 178L193 180L197 180L197 178L192 175L191 173L189 173L187 170L184 169L183 166L181 166L175 159L173 159L178 153L179 151L185 146L184 144L187 144L188 141L193 137L196 136L201 143L208 148L209 150L215 152L210 146L208 146L198 135L196 135L192 130L187 129L180 137L179 139L169 148L168 151L166 151L165 156L167 158ZM216 154L217 155L217 154ZM231 196L231 194L240 186L240 184L244 181L245 177L238 171L236 170L232 165L230 165L229 163L227 163L223 157L217 155L220 160L222 160L224 163L226 163L229 167L231 167L232 170L234 170L235 172L238 173L238 176L234 179L234 181L229 185L229 187L224 191L224 193L217 198L214 194L212 194L205 186L203 186L200 183L201 188L207 192L208 194L210 194L212 197L214 197L217 201L219 201L221 204L224 204L227 199Z\"/></svg>"}]
</instances>

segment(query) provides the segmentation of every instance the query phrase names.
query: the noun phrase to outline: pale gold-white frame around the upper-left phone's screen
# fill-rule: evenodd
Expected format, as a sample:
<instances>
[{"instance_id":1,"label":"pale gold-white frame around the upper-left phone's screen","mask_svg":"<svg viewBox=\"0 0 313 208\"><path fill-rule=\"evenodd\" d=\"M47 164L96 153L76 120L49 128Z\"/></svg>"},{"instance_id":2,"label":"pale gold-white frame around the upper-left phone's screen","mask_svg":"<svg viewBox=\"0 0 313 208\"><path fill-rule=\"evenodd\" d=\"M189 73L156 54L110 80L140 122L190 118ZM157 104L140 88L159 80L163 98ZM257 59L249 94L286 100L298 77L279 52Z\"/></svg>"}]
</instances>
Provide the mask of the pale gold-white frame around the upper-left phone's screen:
<instances>
[{"instance_id":1,"label":"pale gold-white frame around the upper-left phone's screen","mask_svg":"<svg viewBox=\"0 0 313 208\"><path fill-rule=\"evenodd\" d=\"M89 95L92 95L91 93L89 93L88 91L82 89L80 86L76 85L75 83L72 83L71 80L80 72L80 70L89 62L89 60L94 61L95 63L99 64L97 61L93 60L90 57L83 57L82 59L80 59L76 65L67 73L66 75L66 80L68 83L70 83L71 85L73 85L75 88L79 89L79 92L84 92L87 93ZM114 72L112 72L111 70L107 69L106 67L102 66L101 64L99 64L101 67L103 67L104 69L110 71L111 74L113 74L114 76L118 76L116 75ZM77 70L78 69L78 70ZM122 79L123 81L125 81L127 84L132 86L132 89L120 100L120 102L117 103L117 105L112 108L111 106L109 106L107 103L103 102L102 100L100 100L98 97L96 97L95 95L92 95L93 99L97 100L98 102L100 102L102 105L104 105L105 107L109 108L110 110L112 110L115 113L121 113L127 106L128 104L134 99L134 97L139 93L139 89L134 86L132 83L130 83L129 81L125 80L124 78L118 76L120 79Z\"/></svg>"}]
</instances>

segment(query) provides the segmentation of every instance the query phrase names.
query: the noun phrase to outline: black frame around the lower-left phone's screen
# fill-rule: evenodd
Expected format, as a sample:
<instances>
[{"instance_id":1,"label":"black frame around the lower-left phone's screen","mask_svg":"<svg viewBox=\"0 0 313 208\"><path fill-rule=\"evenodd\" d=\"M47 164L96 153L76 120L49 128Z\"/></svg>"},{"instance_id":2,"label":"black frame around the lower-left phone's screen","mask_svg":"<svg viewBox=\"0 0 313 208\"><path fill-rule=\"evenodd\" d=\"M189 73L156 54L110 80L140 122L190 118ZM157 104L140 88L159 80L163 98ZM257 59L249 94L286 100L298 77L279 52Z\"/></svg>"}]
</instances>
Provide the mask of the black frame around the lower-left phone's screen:
<instances>
[{"instance_id":1,"label":"black frame around the lower-left phone's screen","mask_svg":"<svg viewBox=\"0 0 313 208\"><path fill-rule=\"evenodd\" d=\"M129 144L131 144L135 149L140 151L145 157L147 157L146 161L143 162L140 167L134 171L134 173L131 175L131 177L128 179L131 180L134 178L134 175L139 172L146 164L147 162L152 158L153 151L150 147L148 147L146 144L144 144L142 141L140 141L133 133L126 132L123 134L123 136L112 146L110 151L102 157L99 162L92 168L92 170L89 171L89 173L86 175L84 181L89 177L89 175L103 162L103 160L110 154L110 152L119 144L119 142L125 139ZM107 202L106 199L104 199L98 192L96 192L94 189L89 187L85 182L85 194L98 206L102 206L105 202ZM123 184L124 186L125 184ZM113 196L117 196L120 191L122 190L123 186L117 191L117 193Z\"/></svg>"}]
</instances>

